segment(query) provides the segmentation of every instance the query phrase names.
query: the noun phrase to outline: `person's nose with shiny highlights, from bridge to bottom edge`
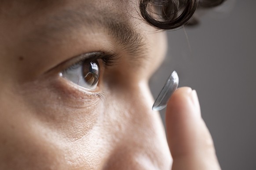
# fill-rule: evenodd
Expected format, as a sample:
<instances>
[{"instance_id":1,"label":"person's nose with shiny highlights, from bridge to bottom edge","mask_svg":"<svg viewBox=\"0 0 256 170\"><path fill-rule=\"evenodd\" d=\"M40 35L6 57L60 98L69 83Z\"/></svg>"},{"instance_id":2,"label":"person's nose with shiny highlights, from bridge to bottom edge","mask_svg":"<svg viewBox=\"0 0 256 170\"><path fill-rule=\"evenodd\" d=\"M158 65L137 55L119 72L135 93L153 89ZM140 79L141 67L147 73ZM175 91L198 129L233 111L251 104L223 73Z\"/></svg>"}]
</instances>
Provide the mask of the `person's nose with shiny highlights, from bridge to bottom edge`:
<instances>
[{"instance_id":1,"label":"person's nose with shiny highlights, from bridge to bottom edge","mask_svg":"<svg viewBox=\"0 0 256 170\"><path fill-rule=\"evenodd\" d=\"M170 169L164 128L159 113L151 110L148 86L141 84L123 96L127 101L124 108L128 105L127 124L104 169Z\"/></svg>"}]
</instances>

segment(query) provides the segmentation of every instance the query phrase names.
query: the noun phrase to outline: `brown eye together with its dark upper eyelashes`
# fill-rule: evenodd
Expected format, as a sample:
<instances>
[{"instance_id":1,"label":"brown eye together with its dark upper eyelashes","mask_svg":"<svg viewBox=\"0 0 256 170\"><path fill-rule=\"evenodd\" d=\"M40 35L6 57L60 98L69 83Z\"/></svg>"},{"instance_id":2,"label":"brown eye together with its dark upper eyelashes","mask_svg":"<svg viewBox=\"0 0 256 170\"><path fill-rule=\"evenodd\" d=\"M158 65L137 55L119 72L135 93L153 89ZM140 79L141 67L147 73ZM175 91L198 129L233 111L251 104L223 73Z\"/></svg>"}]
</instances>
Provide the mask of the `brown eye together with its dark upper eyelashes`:
<instances>
[{"instance_id":1,"label":"brown eye together with its dark upper eyelashes","mask_svg":"<svg viewBox=\"0 0 256 170\"><path fill-rule=\"evenodd\" d=\"M68 68L60 72L60 76L74 84L93 91L97 88L101 68L115 63L117 57L102 52L82 54Z\"/></svg>"}]
</instances>

